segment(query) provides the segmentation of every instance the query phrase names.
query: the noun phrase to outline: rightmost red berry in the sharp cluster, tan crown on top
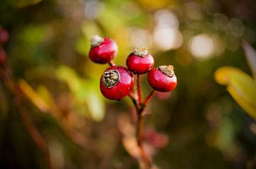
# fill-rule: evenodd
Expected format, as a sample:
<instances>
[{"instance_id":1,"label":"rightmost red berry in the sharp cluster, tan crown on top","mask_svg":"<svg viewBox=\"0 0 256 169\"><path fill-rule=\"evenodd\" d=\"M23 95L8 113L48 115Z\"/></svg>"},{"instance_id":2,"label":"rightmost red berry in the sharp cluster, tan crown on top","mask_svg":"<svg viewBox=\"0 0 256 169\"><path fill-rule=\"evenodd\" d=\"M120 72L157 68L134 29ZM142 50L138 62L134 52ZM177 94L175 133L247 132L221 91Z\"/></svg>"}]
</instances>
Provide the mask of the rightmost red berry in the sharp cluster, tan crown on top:
<instances>
[{"instance_id":1,"label":"rightmost red berry in the sharp cluster, tan crown on top","mask_svg":"<svg viewBox=\"0 0 256 169\"><path fill-rule=\"evenodd\" d=\"M150 86L156 91L173 91L177 85L177 78L172 65L151 69L147 77Z\"/></svg>"}]
</instances>

